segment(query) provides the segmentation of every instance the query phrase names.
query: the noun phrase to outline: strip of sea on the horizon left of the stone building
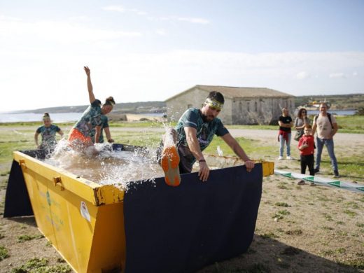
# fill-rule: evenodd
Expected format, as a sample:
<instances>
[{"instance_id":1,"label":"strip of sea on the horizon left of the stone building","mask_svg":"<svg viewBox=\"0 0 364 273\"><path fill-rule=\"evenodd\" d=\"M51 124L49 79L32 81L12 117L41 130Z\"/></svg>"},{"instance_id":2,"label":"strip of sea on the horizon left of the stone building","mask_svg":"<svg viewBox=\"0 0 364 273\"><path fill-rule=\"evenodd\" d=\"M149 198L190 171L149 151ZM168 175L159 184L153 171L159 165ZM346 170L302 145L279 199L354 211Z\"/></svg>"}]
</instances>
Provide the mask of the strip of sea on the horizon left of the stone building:
<instances>
[{"instance_id":1,"label":"strip of sea on the horizon left of the stone building","mask_svg":"<svg viewBox=\"0 0 364 273\"><path fill-rule=\"evenodd\" d=\"M50 119L54 123L68 123L77 121L82 113L49 113ZM162 116L162 113L144 113L144 116ZM29 121L41 122L43 113L1 113L0 123L25 123Z\"/></svg>"}]
</instances>

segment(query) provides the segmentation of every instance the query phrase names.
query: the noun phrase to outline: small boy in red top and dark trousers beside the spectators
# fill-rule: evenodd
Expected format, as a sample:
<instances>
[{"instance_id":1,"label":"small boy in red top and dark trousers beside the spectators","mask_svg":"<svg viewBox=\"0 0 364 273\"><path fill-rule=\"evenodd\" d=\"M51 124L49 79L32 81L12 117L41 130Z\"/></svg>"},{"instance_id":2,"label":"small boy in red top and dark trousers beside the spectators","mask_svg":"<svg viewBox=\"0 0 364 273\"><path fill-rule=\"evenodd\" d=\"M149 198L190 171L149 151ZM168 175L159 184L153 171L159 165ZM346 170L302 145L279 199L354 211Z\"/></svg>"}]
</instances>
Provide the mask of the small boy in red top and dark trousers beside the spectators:
<instances>
[{"instance_id":1,"label":"small boy in red top and dark trousers beside the spectators","mask_svg":"<svg viewBox=\"0 0 364 273\"><path fill-rule=\"evenodd\" d=\"M306 166L308 166L309 174L311 176L314 176L315 142L314 142L314 137L312 136L312 127L309 124L304 126L304 135L300 138L300 141L298 141L298 149L300 150L300 157L301 157L301 174L306 173ZM303 185L304 181L301 180L297 184ZM314 182L311 182L311 186L315 186Z\"/></svg>"}]
</instances>

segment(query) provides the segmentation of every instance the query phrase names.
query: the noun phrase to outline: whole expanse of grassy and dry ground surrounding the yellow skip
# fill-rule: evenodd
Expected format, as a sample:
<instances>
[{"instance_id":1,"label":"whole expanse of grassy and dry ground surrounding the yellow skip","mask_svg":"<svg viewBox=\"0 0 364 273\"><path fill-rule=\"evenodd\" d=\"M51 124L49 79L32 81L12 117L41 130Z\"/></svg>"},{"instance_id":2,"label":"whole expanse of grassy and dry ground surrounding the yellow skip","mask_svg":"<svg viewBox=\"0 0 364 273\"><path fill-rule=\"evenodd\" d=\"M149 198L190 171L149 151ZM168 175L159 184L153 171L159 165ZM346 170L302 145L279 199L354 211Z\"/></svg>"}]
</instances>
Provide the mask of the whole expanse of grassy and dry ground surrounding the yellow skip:
<instances>
[{"instance_id":1,"label":"whole expanse of grassy and dry ground surrounding the yellow skip","mask_svg":"<svg viewBox=\"0 0 364 273\"><path fill-rule=\"evenodd\" d=\"M358 147L348 144L335 147L343 179L363 183L364 117L339 117L337 120L341 127L339 132L363 134L363 141ZM34 132L39 125L0 125L1 214L12 152L34 149ZM69 123L59 126L64 132L71 128ZM155 127L162 127L162 124L111 123L111 133L116 143L156 147L161 133L148 130ZM276 126L234 125L228 128L277 130ZM276 141L264 137L238 137L237 140L252 158L268 161L276 159ZM224 155L233 155L218 137L214 138L204 153L216 154L216 146L221 147ZM276 168L295 172L299 172L299 165L296 160L276 162ZM321 168L326 174L330 172L327 155L323 156ZM293 179L268 176L263 181L255 235L248 252L231 260L216 262L200 273L364 272L363 211L363 194L321 186L297 186ZM70 270L38 232L34 219L0 219L0 272Z\"/></svg>"}]
</instances>

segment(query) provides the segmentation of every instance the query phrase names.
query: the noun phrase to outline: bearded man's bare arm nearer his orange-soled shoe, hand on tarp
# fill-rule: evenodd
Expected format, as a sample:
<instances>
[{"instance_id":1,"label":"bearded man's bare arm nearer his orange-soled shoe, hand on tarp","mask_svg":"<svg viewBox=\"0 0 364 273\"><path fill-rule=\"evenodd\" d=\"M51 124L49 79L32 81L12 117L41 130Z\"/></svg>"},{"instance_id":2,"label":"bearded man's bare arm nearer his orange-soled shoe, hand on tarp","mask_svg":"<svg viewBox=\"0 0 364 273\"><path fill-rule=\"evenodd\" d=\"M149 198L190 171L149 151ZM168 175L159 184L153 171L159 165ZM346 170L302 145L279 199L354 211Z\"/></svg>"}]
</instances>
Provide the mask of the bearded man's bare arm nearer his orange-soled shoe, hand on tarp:
<instances>
[{"instance_id":1,"label":"bearded man's bare arm nearer his orange-soled shoe, hand on tarp","mask_svg":"<svg viewBox=\"0 0 364 273\"><path fill-rule=\"evenodd\" d=\"M198 171L198 176L200 177L200 180L207 181L210 174L209 166L207 166L206 161L200 162L200 160L204 160L204 155L202 155L202 151L200 148L200 144L197 140L197 130L193 127L185 127L184 128L186 132L186 141L188 144L188 148L190 148L191 153L193 153L193 156L196 158L197 162L199 162L200 169Z\"/></svg>"}]
</instances>

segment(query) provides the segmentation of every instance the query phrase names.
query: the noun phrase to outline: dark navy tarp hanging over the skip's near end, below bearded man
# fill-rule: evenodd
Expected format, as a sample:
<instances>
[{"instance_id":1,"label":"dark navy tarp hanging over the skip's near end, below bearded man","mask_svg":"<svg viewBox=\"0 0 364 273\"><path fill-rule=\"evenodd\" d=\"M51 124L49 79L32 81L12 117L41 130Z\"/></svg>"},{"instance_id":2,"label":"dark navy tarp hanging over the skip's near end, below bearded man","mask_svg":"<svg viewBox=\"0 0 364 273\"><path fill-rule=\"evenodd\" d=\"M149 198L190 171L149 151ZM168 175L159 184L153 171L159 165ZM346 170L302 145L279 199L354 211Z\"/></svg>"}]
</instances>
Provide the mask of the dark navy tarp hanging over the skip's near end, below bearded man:
<instances>
[{"instance_id":1,"label":"dark navy tarp hanging over the skip's near end, below bearded man","mask_svg":"<svg viewBox=\"0 0 364 273\"><path fill-rule=\"evenodd\" d=\"M178 187L135 184L124 197L125 272L195 272L244 253L261 193L261 164L216 169L207 182L183 174Z\"/></svg>"}]
</instances>

